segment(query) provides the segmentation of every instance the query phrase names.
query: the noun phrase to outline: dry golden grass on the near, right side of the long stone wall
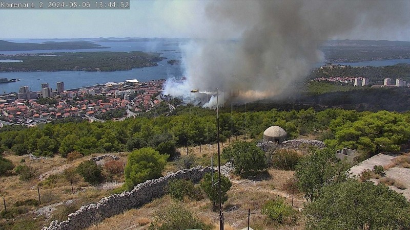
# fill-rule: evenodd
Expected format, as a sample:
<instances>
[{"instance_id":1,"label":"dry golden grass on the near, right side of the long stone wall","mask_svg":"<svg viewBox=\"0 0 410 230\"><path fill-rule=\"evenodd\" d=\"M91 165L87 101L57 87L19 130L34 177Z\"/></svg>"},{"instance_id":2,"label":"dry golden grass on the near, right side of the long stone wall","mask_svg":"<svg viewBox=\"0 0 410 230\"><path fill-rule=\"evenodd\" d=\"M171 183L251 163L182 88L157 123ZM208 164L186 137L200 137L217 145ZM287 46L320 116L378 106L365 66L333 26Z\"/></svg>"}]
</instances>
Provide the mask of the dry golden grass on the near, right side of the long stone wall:
<instances>
[{"instance_id":1,"label":"dry golden grass on the near, right side of the long stone wall","mask_svg":"<svg viewBox=\"0 0 410 230\"><path fill-rule=\"evenodd\" d=\"M284 183L293 177L293 171L271 169L270 177L261 181L240 179L233 176L233 186L228 192L229 199L223 205L225 229L241 229L247 226L248 209L251 209L251 227L254 229L303 229L304 220L298 215L299 220L293 225L285 225L267 221L261 214L262 205L277 195L286 198L291 204L292 195L282 190ZM115 230L115 229L147 229L155 213L175 202L170 196L155 199L138 210L130 210L104 220L102 223L91 226L88 230ZM303 198L300 194L294 197L294 206L303 207ZM211 211L211 203L205 198L199 201L185 200L183 205L194 213L204 223L218 227L218 212ZM296 209L296 208L295 208Z\"/></svg>"}]
</instances>

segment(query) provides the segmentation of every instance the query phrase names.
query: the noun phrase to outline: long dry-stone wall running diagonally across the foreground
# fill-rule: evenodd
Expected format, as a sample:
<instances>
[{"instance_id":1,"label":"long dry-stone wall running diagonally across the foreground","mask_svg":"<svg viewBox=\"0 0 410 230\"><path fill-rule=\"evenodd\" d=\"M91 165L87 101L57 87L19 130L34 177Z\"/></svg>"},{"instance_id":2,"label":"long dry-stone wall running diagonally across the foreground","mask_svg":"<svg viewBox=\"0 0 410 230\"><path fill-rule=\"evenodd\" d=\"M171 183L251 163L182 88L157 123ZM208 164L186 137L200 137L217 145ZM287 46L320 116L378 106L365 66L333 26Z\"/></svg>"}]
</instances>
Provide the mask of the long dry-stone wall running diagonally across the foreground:
<instances>
[{"instance_id":1,"label":"long dry-stone wall running diagonally across the foreground","mask_svg":"<svg viewBox=\"0 0 410 230\"><path fill-rule=\"evenodd\" d=\"M147 180L140 183L130 192L104 197L96 204L81 206L75 213L68 215L68 220L59 222L52 221L49 227L43 227L43 230L77 230L84 229L91 224L98 223L105 218L112 217L124 211L138 208L139 206L150 202L152 199L165 194L164 188L172 179L191 179L199 181L204 174L211 172L211 167L202 168L200 166L179 170L176 173L169 174L154 180Z\"/></svg>"}]
</instances>

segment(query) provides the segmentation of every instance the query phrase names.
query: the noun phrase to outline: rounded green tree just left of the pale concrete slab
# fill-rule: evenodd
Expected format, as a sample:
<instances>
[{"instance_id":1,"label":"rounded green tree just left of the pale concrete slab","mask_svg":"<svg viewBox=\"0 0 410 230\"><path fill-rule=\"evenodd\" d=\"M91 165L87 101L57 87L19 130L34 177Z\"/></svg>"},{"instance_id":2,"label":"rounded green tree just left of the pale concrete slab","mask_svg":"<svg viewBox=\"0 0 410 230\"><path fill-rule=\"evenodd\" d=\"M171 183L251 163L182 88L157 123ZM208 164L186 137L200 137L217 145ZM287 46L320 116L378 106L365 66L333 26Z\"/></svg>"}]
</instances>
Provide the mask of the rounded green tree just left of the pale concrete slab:
<instances>
[{"instance_id":1,"label":"rounded green tree just left of the pale concrete slab","mask_svg":"<svg viewBox=\"0 0 410 230\"><path fill-rule=\"evenodd\" d=\"M332 149L314 150L310 155L302 157L296 166L298 188L306 194L308 200L313 201L320 196L323 187L345 181L348 168L348 163L337 162Z\"/></svg>"}]
</instances>

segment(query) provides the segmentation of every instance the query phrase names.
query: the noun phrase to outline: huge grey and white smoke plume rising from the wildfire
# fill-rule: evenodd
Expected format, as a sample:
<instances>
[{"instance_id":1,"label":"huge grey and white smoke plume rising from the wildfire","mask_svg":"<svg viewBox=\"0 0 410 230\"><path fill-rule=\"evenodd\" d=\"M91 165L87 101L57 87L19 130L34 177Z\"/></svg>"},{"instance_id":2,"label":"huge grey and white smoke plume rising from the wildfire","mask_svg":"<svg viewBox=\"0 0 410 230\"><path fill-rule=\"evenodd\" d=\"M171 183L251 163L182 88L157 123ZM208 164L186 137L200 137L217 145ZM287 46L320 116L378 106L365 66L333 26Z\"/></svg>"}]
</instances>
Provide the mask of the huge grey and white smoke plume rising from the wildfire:
<instances>
[{"instance_id":1,"label":"huge grey and white smoke plume rising from the wildfire","mask_svg":"<svg viewBox=\"0 0 410 230\"><path fill-rule=\"evenodd\" d=\"M206 33L212 39L195 40L182 47L187 79L169 80L165 94L187 98L192 89L201 92L219 88L224 92L219 103L288 96L286 89L323 61L318 50L322 41L368 38L408 29L409 3L210 2L206 6ZM201 23L198 21L198 26ZM230 40L235 35L239 38ZM214 106L214 101L206 105Z\"/></svg>"}]
</instances>

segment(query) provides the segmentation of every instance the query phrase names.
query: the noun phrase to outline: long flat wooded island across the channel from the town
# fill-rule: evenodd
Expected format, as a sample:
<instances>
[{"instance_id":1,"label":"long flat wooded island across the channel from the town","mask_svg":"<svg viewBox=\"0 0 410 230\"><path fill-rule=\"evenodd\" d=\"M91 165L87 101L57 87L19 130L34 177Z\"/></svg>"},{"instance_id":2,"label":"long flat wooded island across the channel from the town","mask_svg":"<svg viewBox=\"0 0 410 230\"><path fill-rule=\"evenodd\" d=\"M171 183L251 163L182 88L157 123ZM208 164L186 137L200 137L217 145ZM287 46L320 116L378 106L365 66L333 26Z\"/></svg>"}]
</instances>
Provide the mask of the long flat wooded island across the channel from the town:
<instances>
[{"instance_id":1,"label":"long flat wooded island across the channel from the town","mask_svg":"<svg viewBox=\"0 0 410 230\"><path fill-rule=\"evenodd\" d=\"M165 57L157 52L79 52L0 55L1 59L23 60L0 65L0 72L34 71L126 71L158 65Z\"/></svg>"}]
</instances>

